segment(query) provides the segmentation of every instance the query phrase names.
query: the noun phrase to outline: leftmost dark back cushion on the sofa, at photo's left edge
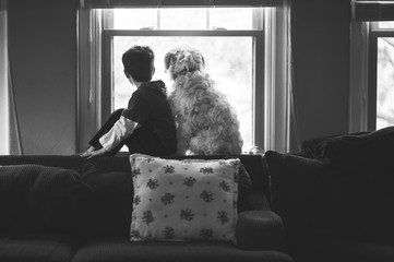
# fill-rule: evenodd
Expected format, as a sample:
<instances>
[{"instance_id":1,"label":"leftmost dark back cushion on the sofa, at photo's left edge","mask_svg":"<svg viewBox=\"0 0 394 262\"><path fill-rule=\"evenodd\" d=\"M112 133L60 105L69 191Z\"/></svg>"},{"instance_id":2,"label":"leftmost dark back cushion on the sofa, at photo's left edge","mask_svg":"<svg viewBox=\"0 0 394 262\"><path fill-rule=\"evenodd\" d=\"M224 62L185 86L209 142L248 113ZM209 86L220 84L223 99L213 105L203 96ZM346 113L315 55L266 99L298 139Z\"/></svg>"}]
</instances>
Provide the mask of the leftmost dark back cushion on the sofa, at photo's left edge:
<instances>
[{"instance_id":1,"label":"leftmost dark back cushion on the sofa, at photo's left edge","mask_svg":"<svg viewBox=\"0 0 394 262\"><path fill-rule=\"evenodd\" d=\"M81 233L91 188L72 169L0 166L0 233Z\"/></svg>"}]
</instances>

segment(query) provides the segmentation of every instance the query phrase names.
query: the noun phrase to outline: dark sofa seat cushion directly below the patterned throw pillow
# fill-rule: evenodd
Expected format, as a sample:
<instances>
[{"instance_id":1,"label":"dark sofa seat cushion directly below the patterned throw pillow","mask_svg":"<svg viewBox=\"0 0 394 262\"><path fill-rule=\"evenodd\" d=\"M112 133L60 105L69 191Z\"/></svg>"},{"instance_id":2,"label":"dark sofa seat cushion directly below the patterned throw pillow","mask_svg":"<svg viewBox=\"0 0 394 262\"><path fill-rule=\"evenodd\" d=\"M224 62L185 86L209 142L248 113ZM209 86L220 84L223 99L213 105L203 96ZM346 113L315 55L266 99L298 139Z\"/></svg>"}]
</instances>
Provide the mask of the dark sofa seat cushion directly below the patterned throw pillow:
<instances>
[{"instance_id":1,"label":"dark sofa seat cushion directly below the patterned throw pillow","mask_svg":"<svg viewBox=\"0 0 394 262\"><path fill-rule=\"evenodd\" d=\"M290 262L291 258L276 251L246 251L223 241L134 241L108 239L83 245L74 262Z\"/></svg>"}]
</instances>

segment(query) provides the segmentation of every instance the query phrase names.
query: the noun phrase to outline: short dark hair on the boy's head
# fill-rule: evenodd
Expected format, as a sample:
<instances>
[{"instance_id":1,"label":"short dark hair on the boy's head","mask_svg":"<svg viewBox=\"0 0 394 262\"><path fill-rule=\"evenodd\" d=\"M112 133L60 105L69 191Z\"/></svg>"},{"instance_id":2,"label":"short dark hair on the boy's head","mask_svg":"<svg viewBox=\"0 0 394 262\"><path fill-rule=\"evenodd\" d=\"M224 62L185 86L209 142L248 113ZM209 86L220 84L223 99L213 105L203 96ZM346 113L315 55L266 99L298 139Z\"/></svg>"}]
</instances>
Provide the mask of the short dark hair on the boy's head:
<instances>
[{"instance_id":1,"label":"short dark hair on the boy's head","mask_svg":"<svg viewBox=\"0 0 394 262\"><path fill-rule=\"evenodd\" d=\"M154 60L155 55L147 46L133 46L122 56L124 72L138 82L152 80Z\"/></svg>"}]
</instances>

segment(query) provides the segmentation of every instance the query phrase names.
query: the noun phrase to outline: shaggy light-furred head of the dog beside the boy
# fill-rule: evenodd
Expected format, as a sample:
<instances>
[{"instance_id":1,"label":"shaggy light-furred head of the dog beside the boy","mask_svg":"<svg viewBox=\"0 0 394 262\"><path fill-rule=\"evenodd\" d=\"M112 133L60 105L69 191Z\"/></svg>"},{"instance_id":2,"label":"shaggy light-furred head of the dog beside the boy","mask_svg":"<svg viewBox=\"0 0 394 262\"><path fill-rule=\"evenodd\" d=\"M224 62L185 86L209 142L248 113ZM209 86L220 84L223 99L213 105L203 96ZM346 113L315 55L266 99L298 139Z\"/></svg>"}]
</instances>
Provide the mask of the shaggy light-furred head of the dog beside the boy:
<instances>
[{"instance_id":1,"label":"shaggy light-furred head of the dog beside the boy","mask_svg":"<svg viewBox=\"0 0 394 262\"><path fill-rule=\"evenodd\" d=\"M165 58L165 67L172 80L179 75L204 71L205 60L202 52L190 45L180 45L169 50Z\"/></svg>"}]
</instances>

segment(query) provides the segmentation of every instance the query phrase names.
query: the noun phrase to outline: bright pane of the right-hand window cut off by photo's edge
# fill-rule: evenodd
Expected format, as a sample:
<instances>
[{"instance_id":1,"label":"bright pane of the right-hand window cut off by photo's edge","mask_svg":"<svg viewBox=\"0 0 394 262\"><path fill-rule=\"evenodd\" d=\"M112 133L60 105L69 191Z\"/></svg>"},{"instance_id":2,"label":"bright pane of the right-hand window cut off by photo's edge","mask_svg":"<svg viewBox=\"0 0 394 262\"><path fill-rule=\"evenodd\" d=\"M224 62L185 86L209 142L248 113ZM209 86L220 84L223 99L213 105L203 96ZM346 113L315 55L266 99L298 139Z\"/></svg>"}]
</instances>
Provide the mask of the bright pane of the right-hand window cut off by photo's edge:
<instances>
[{"instance_id":1,"label":"bright pane of the right-hand window cut off by photo's edge","mask_svg":"<svg viewBox=\"0 0 394 262\"><path fill-rule=\"evenodd\" d=\"M377 129L394 124L394 37L378 38Z\"/></svg>"}]
</instances>

